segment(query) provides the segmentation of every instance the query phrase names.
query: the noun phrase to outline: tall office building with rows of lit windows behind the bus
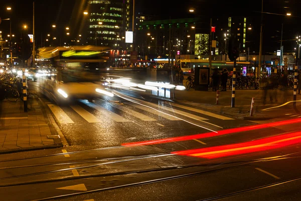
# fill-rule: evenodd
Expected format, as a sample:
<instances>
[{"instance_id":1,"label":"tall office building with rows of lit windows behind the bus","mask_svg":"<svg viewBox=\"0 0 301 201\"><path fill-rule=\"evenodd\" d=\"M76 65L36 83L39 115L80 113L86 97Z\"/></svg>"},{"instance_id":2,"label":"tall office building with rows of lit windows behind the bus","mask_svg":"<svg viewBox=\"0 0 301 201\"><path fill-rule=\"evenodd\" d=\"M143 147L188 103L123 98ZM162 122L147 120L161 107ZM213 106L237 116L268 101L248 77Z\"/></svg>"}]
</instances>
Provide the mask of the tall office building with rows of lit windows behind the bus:
<instances>
[{"instance_id":1,"label":"tall office building with rows of lit windows behind the bus","mask_svg":"<svg viewBox=\"0 0 301 201\"><path fill-rule=\"evenodd\" d=\"M90 0L87 43L125 47L125 31L130 31L132 0Z\"/></svg>"}]
</instances>

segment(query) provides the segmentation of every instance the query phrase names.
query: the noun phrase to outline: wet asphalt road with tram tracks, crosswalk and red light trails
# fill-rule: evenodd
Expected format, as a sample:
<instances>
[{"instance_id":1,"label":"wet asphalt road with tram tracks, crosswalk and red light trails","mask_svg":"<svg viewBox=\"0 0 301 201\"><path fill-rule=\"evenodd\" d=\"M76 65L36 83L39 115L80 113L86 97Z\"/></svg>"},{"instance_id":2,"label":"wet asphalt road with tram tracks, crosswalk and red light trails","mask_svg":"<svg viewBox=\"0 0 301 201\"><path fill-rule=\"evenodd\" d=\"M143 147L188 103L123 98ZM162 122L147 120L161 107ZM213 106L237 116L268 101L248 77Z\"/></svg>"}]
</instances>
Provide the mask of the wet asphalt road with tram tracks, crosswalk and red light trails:
<instances>
[{"instance_id":1,"label":"wet asphalt road with tram tracks, crosswalk and red light trails","mask_svg":"<svg viewBox=\"0 0 301 201\"><path fill-rule=\"evenodd\" d=\"M29 83L31 93L39 94L39 83ZM299 119L259 126L119 95L70 106L41 97L69 145L3 155L5 200L300 198Z\"/></svg>"}]
</instances>

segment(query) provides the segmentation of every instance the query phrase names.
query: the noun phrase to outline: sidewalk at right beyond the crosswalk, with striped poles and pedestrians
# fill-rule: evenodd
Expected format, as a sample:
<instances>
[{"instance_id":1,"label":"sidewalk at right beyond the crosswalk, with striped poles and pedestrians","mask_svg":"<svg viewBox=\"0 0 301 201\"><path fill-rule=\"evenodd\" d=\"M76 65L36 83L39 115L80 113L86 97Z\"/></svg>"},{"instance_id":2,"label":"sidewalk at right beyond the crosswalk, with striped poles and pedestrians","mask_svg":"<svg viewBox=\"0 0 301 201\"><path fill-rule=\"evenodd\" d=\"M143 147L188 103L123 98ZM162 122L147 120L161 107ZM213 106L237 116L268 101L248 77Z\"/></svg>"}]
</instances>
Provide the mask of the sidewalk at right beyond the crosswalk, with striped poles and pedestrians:
<instances>
[{"instance_id":1,"label":"sidewalk at right beyond the crosswalk, with striped poles and pedestrians","mask_svg":"<svg viewBox=\"0 0 301 201\"><path fill-rule=\"evenodd\" d=\"M216 91L212 91L212 89L209 89L209 91L195 91L193 89L189 91L176 91L175 97L176 101L182 104L203 108L218 114L224 114L245 120L267 120L299 114L298 111L293 109L292 103L282 107L262 111L263 109L277 107L286 102L292 101L293 90L287 91L287 100L284 99L284 93L282 91L268 91L265 105L263 104L264 90L239 89L235 92L235 108L231 108L231 89L227 91L220 91L218 105L216 105ZM276 96L277 102L275 102L275 100L269 100L269 92L271 92L273 96ZM253 116L249 117L252 97L255 98L254 112ZM297 95L297 100L301 100L301 95ZM297 110L301 111L301 103L297 102L296 106Z\"/></svg>"}]
</instances>

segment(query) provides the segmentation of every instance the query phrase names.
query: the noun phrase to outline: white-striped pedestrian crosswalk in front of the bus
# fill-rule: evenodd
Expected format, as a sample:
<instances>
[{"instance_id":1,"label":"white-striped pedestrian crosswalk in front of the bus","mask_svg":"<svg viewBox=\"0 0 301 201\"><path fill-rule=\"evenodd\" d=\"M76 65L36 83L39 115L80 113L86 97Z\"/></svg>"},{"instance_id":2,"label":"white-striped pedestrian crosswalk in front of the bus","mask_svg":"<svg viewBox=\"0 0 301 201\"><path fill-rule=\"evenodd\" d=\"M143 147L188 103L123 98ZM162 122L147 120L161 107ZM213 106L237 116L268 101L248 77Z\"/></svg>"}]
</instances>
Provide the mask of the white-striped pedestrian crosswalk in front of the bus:
<instances>
[{"instance_id":1,"label":"white-striped pedestrian crosswalk in front of the bus","mask_svg":"<svg viewBox=\"0 0 301 201\"><path fill-rule=\"evenodd\" d=\"M233 120L229 117L169 102L160 105L149 102L145 102L144 105L143 101L142 104L134 102L123 102L121 104L116 102L89 103L85 101L81 101L81 103L62 108L54 104L48 104L48 107L60 124L74 124L79 121L78 118L81 121L84 119L87 123L101 123L107 120L120 123L135 120L143 122L181 121L185 118L210 124L209 121L212 119ZM72 115L70 115L70 112L72 112ZM194 112L194 114L190 112Z\"/></svg>"}]
</instances>

